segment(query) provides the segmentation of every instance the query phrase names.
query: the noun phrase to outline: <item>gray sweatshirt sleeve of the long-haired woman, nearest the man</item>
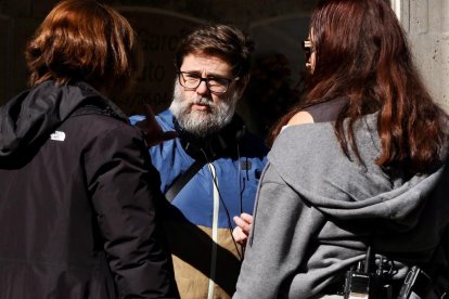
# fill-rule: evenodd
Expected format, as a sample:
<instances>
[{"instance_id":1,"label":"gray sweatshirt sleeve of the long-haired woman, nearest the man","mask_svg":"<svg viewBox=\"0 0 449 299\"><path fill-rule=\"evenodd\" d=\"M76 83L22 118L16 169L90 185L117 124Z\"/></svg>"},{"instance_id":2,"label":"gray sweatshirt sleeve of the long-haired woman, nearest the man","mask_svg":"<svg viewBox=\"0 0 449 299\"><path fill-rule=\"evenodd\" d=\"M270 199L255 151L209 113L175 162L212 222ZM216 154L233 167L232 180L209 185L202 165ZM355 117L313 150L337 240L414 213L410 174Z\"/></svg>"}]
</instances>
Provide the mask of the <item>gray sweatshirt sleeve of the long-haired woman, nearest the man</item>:
<instances>
[{"instance_id":1,"label":"gray sweatshirt sleeve of the long-haired woman, nearest the man","mask_svg":"<svg viewBox=\"0 0 449 299\"><path fill-rule=\"evenodd\" d=\"M319 211L305 205L268 164L260 180L254 217L232 298L306 298L291 297L288 292L298 292L288 288L295 274L300 272L306 249L322 223ZM281 294L282 285L286 286L282 291L287 294Z\"/></svg>"}]
</instances>

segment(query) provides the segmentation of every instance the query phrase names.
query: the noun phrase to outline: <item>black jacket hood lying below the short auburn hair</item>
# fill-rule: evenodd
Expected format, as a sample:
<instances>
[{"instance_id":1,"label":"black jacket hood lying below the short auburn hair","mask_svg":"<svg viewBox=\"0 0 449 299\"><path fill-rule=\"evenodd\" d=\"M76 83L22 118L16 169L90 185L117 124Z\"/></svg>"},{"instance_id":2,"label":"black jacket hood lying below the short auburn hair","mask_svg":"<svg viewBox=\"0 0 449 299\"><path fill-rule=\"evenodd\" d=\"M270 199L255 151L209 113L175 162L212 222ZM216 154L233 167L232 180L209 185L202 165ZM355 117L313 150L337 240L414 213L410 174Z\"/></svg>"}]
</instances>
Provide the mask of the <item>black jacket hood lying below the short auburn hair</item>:
<instances>
[{"instance_id":1,"label":"black jacket hood lying below the short auburn hair","mask_svg":"<svg viewBox=\"0 0 449 299\"><path fill-rule=\"evenodd\" d=\"M126 116L114 103L86 82L56 86L49 80L10 100L0 107L0 159L26 153L86 105L108 107L126 121Z\"/></svg>"}]
</instances>

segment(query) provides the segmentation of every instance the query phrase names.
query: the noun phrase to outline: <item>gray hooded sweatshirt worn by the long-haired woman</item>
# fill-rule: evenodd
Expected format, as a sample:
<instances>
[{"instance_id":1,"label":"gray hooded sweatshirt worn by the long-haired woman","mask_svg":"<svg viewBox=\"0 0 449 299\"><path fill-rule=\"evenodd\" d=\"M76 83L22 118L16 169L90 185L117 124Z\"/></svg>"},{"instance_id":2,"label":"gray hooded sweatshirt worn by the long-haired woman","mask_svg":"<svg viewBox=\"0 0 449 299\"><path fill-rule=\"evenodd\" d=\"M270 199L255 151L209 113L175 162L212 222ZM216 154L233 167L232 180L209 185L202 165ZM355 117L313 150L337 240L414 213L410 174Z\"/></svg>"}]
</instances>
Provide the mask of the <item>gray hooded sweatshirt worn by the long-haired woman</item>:
<instances>
[{"instance_id":1,"label":"gray hooded sweatshirt worn by the long-haired woman","mask_svg":"<svg viewBox=\"0 0 449 299\"><path fill-rule=\"evenodd\" d=\"M315 297L363 260L368 245L395 261L394 280L434 256L449 222L449 171L387 174L374 162L376 117L356 125L364 165L344 155L331 122L291 126L278 136L233 298Z\"/></svg>"}]
</instances>

